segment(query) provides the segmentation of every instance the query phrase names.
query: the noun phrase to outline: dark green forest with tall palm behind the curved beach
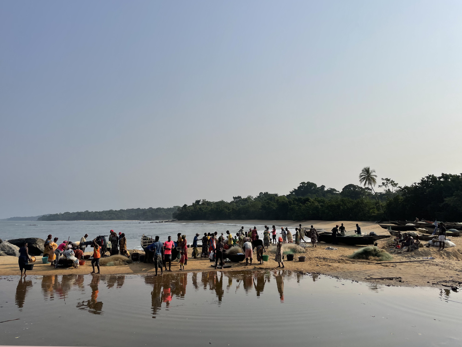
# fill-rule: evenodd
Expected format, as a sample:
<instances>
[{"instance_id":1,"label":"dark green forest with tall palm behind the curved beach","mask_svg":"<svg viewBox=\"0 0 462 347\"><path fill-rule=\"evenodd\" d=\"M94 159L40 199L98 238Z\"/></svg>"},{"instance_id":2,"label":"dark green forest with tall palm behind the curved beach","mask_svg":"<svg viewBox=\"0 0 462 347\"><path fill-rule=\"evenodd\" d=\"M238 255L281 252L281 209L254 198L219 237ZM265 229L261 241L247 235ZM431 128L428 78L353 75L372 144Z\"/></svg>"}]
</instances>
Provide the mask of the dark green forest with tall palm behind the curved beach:
<instances>
[{"instance_id":1,"label":"dark green forest with tall palm behind the curved beach","mask_svg":"<svg viewBox=\"0 0 462 347\"><path fill-rule=\"evenodd\" d=\"M365 169L369 171L364 171ZM302 182L287 195L261 192L258 196L233 197L230 202L196 200L173 213L179 220L414 220L462 221L462 174L428 175L411 186L398 186L383 178L375 192L376 175L363 169L366 183L349 184L341 191ZM368 175L368 176L366 176ZM372 176L372 179L370 178ZM361 176L360 176L361 179Z\"/></svg>"}]
</instances>

